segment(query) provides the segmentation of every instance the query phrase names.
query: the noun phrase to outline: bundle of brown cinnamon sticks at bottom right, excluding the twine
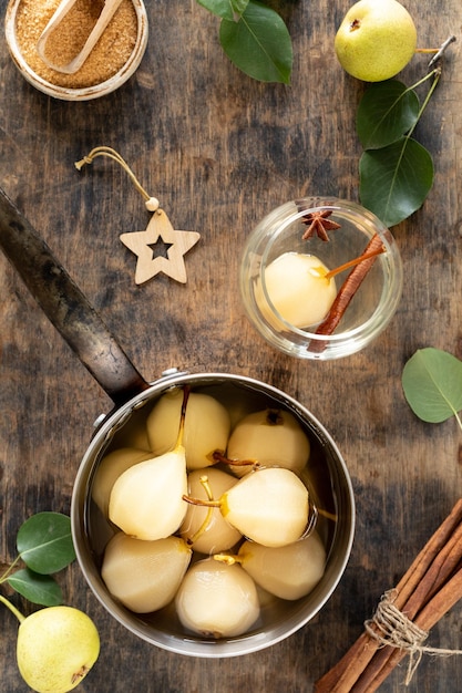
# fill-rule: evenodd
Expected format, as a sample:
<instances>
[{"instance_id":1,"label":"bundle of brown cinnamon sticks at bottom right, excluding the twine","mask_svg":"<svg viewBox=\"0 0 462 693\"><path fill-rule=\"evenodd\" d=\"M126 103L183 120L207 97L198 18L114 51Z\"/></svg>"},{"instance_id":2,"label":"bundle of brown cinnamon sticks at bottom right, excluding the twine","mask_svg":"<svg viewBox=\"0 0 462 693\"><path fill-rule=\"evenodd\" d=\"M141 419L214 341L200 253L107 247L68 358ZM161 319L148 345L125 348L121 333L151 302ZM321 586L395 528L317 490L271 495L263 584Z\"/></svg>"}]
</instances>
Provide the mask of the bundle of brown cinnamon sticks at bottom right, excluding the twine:
<instances>
[{"instance_id":1,"label":"bundle of brown cinnamon sticks at bottom right, excluding the twine","mask_svg":"<svg viewBox=\"0 0 462 693\"><path fill-rule=\"evenodd\" d=\"M427 633L462 598L462 498L392 593L393 608ZM383 647L372 619L343 658L315 683L315 693L372 693L407 655L408 649Z\"/></svg>"}]
</instances>

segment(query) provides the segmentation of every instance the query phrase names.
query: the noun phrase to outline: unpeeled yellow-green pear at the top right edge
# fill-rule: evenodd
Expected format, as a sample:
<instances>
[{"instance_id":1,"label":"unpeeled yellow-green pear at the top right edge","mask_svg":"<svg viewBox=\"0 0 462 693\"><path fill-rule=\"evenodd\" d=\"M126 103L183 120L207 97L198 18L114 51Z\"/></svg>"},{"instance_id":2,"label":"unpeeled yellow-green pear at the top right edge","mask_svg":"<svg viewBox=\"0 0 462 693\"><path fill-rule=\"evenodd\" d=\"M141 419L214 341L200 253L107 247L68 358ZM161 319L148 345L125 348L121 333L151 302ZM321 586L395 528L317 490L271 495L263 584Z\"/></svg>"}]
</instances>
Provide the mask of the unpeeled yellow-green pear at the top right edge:
<instances>
[{"instance_id":1,"label":"unpeeled yellow-green pear at the top right edge","mask_svg":"<svg viewBox=\"0 0 462 693\"><path fill-rule=\"evenodd\" d=\"M346 72L365 82L381 82L400 72L417 46L417 30L397 0L359 0L345 15L335 39Z\"/></svg>"}]
</instances>

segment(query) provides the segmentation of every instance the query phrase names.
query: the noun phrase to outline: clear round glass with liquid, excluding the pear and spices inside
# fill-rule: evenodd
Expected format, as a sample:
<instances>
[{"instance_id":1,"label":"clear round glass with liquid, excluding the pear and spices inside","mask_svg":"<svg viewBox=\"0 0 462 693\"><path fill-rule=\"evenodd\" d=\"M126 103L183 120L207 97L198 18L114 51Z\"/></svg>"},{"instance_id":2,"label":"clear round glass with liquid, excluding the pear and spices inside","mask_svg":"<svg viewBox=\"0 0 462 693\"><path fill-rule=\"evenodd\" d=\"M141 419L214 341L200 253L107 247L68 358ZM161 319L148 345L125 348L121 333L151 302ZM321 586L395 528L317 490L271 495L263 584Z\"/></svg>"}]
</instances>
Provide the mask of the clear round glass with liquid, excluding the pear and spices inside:
<instances>
[{"instance_id":1,"label":"clear round glass with liquid, excluding the pear and spices inside","mask_svg":"<svg viewBox=\"0 0 462 693\"><path fill-rule=\"evenodd\" d=\"M316 229L304 239L311 220L319 219L319 214L324 215L321 223L322 219L333 221L339 228L327 229L328 240L320 238ZM342 301L348 293L342 285L351 271L358 276L362 262L356 269L350 267L335 277L333 296L337 294L337 299L330 314L327 311L318 317L317 322L296 327L287 319L287 313L279 312L281 309L279 307L278 310L274 303L274 286L269 287L267 272L275 260L285 254L315 256L330 271L365 254L372 239L377 246L376 236L380 238L383 251L365 261L360 273L367 266L370 268L332 333L317 331L332 312L337 314L339 292ZM290 275L279 277L287 282L285 290L297 283ZM326 279L322 281L327 282ZM402 262L393 236L371 211L342 199L308 197L277 207L253 230L244 249L239 283L248 318L273 346L299 359L339 359L363 349L391 320L401 298ZM318 299L314 293L297 293L295 289L290 298L295 303L299 301L300 306L318 302Z\"/></svg>"}]
</instances>

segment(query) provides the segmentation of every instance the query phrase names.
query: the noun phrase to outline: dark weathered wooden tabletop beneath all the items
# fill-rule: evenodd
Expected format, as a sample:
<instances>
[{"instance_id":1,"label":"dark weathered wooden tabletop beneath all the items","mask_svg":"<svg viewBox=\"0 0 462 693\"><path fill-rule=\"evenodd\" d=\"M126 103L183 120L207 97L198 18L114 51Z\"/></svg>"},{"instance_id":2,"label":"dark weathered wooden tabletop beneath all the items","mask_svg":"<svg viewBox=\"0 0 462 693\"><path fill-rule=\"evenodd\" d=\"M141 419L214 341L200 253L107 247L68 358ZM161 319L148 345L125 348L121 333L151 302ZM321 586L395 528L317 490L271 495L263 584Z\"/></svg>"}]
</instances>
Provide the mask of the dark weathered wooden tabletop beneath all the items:
<instances>
[{"instance_id":1,"label":"dark weathered wooden tabletop beneath all the items","mask_svg":"<svg viewBox=\"0 0 462 693\"><path fill-rule=\"evenodd\" d=\"M74 563L66 601L95 620L100 659L82 693L308 693L362 630L461 496L462 435L454 420L424 424L401 390L405 361L437 346L462 358L462 80L460 0L408 0L419 45L458 35L417 130L434 156L421 210L393 228L404 262L397 316L366 351L305 362L261 341L244 318L237 273L243 245L271 208L301 195L358 199L355 114L362 84L337 63L332 42L347 0L283 3L295 50L291 86L260 84L223 54L218 22L191 0L147 2L151 34L137 73L101 100L69 103L30 86L0 44L0 186L97 309L143 375L171 366L269 382L297 397L330 431L347 462L357 531L345 577L322 611L273 648L230 660L156 649L113 621ZM4 15L6 0L0 0ZM424 72L415 56L402 80ZM156 196L175 228L197 230L187 282L157 276L135 286L135 256L119 240L148 214L127 176L92 147L113 146ZM22 521L69 513L96 416L111 401L54 330L0 254L0 559L14 557ZM3 589L3 588L2 588ZM25 608L21 600L17 600ZM1 616L1 684L27 690L14 660L17 623ZM430 644L462 648L455 607ZM404 666L381 686L403 687ZM459 693L462 658L424 658L409 687Z\"/></svg>"}]
</instances>

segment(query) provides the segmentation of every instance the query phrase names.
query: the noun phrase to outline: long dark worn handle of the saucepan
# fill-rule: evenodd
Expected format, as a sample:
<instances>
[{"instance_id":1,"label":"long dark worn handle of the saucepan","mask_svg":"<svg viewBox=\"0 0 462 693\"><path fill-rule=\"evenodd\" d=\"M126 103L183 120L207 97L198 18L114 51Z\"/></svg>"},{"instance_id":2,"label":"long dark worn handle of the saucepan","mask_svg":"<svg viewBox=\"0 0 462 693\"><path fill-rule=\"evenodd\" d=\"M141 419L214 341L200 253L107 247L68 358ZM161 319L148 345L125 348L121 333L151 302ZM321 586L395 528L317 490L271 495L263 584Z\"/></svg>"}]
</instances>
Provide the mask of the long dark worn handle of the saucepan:
<instances>
[{"instance_id":1,"label":"long dark worn handle of the saucepan","mask_svg":"<svg viewBox=\"0 0 462 693\"><path fill-rule=\"evenodd\" d=\"M47 244L1 189L0 248L114 404L124 404L150 386Z\"/></svg>"}]
</instances>

